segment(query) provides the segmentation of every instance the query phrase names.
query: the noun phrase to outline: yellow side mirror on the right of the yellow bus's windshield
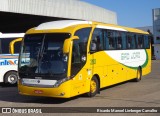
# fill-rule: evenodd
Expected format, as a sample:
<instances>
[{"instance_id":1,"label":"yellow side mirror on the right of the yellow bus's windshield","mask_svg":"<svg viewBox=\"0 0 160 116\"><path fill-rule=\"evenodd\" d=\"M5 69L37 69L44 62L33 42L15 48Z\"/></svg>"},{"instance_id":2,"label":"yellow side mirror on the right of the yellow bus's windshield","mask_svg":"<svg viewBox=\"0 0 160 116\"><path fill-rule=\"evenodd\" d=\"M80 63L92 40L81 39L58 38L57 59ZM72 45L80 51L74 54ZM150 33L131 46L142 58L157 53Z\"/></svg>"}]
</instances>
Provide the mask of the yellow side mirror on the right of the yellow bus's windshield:
<instances>
[{"instance_id":1,"label":"yellow side mirror on the right of the yellow bus's windshield","mask_svg":"<svg viewBox=\"0 0 160 116\"><path fill-rule=\"evenodd\" d=\"M68 53L69 52L69 48L70 48L70 45L71 45L71 42L73 41L73 40L78 40L79 39L79 37L78 36L73 36L73 37L71 37L71 38L69 38L69 39L66 39L65 41L64 41L64 45L63 45L63 53Z\"/></svg>"}]
</instances>

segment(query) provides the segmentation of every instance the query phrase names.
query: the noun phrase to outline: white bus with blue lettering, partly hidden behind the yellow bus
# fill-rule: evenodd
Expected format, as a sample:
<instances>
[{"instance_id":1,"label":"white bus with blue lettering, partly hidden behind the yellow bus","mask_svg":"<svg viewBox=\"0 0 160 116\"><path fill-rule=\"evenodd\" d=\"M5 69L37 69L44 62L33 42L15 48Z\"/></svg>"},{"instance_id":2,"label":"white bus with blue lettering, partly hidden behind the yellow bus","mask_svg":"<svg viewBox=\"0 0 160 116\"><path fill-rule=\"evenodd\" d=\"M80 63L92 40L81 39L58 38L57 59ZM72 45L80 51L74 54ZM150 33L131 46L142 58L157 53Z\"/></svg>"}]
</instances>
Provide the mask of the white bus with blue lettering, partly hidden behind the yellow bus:
<instances>
[{"instance_id":1,"label":"white bus with blue lettering, partly hidden behind the yellow bus","mask_svg":"<svg viewBox=\"0 0 160 116\"><path fill-rule=\"evenodd\" d=\"M17 65L24 33L0 33L0 83L17 83Z\"/></svg>"}]
</instances>

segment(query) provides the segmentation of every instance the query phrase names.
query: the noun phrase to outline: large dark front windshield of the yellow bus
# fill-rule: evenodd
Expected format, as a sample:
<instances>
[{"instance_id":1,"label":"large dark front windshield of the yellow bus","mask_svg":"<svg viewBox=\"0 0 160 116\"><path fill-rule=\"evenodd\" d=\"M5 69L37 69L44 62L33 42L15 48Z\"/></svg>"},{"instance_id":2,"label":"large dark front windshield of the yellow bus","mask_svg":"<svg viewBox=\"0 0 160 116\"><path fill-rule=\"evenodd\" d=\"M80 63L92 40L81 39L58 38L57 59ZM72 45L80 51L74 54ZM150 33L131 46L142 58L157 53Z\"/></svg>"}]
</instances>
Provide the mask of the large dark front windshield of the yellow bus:
<instances>
[{"instance_id":1,"label":"large dark front windshield of the yellow bus","mask_svg":"<svg viewBox=\"0 0 160 116\"><path fill-rule=\"evenodd\" d=\"M68 56L63 54L68 33L26 35L22 44L19 75L23 78L59 80L66 77Z\"/></svg>"}]
</instances>

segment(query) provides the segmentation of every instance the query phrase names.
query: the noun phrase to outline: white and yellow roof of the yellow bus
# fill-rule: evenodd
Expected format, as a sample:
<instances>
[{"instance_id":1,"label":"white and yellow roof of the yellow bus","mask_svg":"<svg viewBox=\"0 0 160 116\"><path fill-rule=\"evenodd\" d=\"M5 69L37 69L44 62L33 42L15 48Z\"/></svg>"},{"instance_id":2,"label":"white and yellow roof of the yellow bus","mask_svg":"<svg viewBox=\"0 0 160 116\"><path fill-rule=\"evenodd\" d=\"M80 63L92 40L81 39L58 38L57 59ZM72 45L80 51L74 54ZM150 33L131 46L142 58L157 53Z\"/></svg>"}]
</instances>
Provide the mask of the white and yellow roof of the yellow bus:
<instances>
[{"instance_id":1,"label":"white and yellow roof of the yellow bus","mask_svg":"<svg viewBox=\"0 0 160 116\"><path fill-rule=\"evenodd\" d=\"M35 31L56 30L56 29L59 30L59 29L70 27L70 26L82 25L82 24L97 25L97 28L148 34L148 32L145 32L143 30L136 29L136 28L129 28L129 27L119 26L119 25L114 25L114 24L106 24L106 23L100 23L100 22L94 22L94 21L82 21L82 20L60 20L60 21L46 22L46 23L42 23L39 26L35 27L33 30Z\"/></svg>"}]
</instances>

